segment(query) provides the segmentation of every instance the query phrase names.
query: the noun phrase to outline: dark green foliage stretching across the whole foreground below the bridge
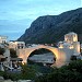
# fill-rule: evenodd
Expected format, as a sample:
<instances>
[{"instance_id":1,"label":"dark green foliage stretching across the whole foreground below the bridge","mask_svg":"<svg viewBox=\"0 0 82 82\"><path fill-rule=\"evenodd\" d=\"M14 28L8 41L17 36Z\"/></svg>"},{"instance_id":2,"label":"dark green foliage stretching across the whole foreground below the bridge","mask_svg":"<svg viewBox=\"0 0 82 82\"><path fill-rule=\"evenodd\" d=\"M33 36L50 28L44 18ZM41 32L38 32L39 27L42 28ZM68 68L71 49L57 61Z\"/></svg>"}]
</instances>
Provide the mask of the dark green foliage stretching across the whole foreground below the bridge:
<instances>
[{"instance_id":1,"label":"dark green foliage stretching across the whole foreground below the bridge","mask_svg":"<svg viewBox=\"0 0 82 82\"><path fill-rule=\"evenodd\" d=\"M39 71L40 70L40 71ZM48 71L44 73L45 71ZM82 60L73 60L61 68L39 68L39 66L22 65L21 73L8 73L0 71L0 75L11 80L35 80L35 82L82 82ZM43 71L43 74L39 73Z\"/></svg>"}]
</instances>

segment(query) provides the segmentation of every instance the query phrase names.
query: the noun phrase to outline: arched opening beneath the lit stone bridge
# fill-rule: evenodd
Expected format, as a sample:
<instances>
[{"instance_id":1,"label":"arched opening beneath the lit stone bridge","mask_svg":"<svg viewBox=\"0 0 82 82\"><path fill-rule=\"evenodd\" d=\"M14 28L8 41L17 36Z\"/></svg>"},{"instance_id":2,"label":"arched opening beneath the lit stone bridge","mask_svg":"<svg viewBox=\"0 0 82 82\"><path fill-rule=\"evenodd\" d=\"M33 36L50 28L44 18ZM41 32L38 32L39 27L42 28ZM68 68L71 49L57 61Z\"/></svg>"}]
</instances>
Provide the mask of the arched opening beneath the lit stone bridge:
<instances>
[{"instance_id":1,"label":"arched opening beneath the lit stone bridge","mask_svg":"<svg viewBox=\"0 0 82 82\"><path fill-rule=\"evenodd\" d=\"M32 51L27 58L27 65L51 66L56 62L55 54L46 48Z\"/></svg>"}]
</instances>

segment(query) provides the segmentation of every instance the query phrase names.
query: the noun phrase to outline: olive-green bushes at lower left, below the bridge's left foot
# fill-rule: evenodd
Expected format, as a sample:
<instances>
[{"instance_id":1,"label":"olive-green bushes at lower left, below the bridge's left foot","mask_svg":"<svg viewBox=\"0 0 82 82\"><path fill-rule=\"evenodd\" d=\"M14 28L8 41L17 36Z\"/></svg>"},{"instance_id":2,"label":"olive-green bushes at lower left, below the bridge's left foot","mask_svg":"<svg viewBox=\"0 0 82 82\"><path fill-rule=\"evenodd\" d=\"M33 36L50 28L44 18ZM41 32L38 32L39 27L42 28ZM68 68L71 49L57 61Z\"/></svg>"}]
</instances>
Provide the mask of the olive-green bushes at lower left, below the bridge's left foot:
<instances>
[{"instance_id":1,"label":"olive-green bushes at lower left, below the bridge's left foot","mask_svg":"<svg viewBox=\"0 0 82 82\"><path fill-rule=\"evenodd\" d=\"M0 75L3 77L5 80L11 79L13 81L16 80L31 80L36 77L37 71L35 67L28 67L27 65L22 65L22 71L20 73L16 72L8 72L8 71L0 71Z\"/></svg>"}]
</instances>

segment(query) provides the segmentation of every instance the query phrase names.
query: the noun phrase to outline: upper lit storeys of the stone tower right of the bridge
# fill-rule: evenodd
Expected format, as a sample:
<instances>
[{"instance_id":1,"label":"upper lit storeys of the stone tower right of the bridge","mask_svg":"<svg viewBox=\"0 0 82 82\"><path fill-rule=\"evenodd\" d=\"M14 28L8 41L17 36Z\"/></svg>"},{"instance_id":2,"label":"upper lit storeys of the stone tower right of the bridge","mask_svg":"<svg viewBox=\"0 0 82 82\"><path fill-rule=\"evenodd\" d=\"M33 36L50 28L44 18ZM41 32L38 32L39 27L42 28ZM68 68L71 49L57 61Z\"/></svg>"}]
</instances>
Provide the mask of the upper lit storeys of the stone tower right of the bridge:
<instances>
[{"instance_id":1,"label":"upper lit storeys of the stone tower right of the bridge","mask_svg":"<svg viewBox=\"0 0 82 82\"><path fill-rule=\"evenodd\" d=\"M71 49L74 56L80 55L80 42L78 42L78 34L71 32L65 35L65 40L58 43L60 49Z\"/></svg>"}]
</instances>

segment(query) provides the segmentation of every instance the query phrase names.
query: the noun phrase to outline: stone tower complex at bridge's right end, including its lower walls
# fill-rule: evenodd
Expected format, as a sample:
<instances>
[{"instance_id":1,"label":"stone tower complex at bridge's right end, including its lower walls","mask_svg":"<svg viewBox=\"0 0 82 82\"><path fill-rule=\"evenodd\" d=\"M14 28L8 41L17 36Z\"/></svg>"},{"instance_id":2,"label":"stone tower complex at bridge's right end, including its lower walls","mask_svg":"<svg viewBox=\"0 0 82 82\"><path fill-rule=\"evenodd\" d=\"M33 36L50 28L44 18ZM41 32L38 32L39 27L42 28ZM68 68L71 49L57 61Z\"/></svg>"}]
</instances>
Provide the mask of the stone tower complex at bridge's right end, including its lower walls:
<instances>
[{"instance_id":1,"label":"stone tower complex at bridge's right end, including its lower walls","mask_svg":"<svg viewBox=\"0 0 82 82\"><path fill-rule=\"evenodd\" d=\"M71 56L80 56L80 42L78 34L71 32L65 35L65 40L58 43L60 57L65 56L65 62L69 62ZM62 55L63 54L63 55Z\"/></svg>"}]
</instances>

